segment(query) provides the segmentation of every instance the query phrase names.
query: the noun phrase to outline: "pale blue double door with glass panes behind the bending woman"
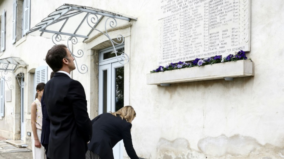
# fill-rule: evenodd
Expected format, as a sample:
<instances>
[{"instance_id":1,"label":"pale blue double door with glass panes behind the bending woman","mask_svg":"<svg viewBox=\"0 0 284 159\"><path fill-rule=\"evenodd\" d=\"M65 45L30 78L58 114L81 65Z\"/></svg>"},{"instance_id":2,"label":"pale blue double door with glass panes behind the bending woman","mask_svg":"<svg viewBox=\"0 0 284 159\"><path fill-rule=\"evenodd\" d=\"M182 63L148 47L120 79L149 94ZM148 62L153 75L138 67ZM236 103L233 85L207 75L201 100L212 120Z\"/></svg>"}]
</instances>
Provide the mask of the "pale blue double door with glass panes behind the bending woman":
<instances>
[{"instance_id":1,"label":"pale blue double door with glass panes behind the bending woman","mask_svg":"<svg viewBox=\"0 0 284 159\"><path fill-rule=\"evenodd\" d=\"M118 54L124 52L123 45L117 46L116 49ZM124 66L117 61L112 50L111 47L100 51L99 114L115 112L123 107ZM123 141L114 146L113 155L114 159L123 158Z\"/></svg>"}]
</instances>

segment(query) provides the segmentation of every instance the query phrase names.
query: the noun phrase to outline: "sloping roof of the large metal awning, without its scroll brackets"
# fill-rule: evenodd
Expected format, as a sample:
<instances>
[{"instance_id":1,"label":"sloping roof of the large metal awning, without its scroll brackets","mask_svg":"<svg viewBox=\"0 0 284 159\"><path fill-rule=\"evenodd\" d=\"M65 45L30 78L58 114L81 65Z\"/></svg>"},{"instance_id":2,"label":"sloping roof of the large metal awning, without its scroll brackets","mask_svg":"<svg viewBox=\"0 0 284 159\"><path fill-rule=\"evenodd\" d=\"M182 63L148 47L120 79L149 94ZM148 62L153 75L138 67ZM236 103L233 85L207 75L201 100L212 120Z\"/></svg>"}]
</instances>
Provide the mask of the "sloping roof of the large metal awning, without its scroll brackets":
<instances>
[{"instance_id":1,"label":"sloping roof of the large metal awning, without its scroll brackets","mask_svg":"<svg viewBox=\"0 0 284 159\"><path fill-rule=\"evenodd\" d=\"M107 10L64 4L49 14L39 24L36 24L35 27L31 28L27 34L46 38L52 38L54 34L67 35L61 37L61 40L68 40L69 36L75 36L78 38L78 42L82 42L100 24L103 17L126 21L137 20L137 18Z\"/></svg>"}]
</instances>

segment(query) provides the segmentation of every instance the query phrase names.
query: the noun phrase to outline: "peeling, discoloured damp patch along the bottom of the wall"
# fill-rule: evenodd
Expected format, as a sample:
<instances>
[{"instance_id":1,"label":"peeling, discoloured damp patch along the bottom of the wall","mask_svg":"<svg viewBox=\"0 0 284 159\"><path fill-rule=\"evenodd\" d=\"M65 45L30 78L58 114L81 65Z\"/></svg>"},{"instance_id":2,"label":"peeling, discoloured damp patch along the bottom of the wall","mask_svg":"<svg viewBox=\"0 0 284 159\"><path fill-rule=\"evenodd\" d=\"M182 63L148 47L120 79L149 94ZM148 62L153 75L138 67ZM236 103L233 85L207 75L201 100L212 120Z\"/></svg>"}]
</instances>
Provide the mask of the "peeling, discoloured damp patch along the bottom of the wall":
<instances>
[{"instance_id":1,"label":"peeling, discoloured damp patch along the bottom of the wall","mask_svg":"<svg viewBox=\"0 0 284 159\"><path fill-rule=\"evenodd\" d=\"M283 141L281 147L261 145L255 138L241 135L206 137L199 140L198 148L191 149L185 138L160 138L149 159L284 159Z\"/></svg>"}]
</instances>

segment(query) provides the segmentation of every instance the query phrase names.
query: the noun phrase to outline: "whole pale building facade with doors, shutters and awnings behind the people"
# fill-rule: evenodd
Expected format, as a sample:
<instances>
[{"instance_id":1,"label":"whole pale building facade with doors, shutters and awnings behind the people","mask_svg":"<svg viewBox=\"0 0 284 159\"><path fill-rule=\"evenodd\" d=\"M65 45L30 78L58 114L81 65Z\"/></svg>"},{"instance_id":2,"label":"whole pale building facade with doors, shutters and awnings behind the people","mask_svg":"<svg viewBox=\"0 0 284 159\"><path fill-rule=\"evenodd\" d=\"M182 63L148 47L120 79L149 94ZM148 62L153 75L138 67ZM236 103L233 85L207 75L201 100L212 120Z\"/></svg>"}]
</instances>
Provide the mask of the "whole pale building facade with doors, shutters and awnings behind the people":
<instances>
[{"instance_id":1,"label":"whole pale building facade with doors, shutters and awnings behind the people","mask_svg":"<svg viewBox=\"0 0 284 159\"><path fill-rule=\"evenodd\" d=\"M91 119L121 106L134 107L137 116L131 133L139 157L284 158L284 2L249 1L250 51L246 56L254 63L254 76L233 81L212 78L182 82L176 78L168 87L147 84L147 74L159 66L163 2L0 1L0 136L22 140L31 147L30 105L36 84L49 80L52 70L44 58L56 43L68 45L76 56L77 69L71 76L85 88ZM93 20L100 22L91 26L101 32L83 20L77 21L75 11L66 15L64 10L72 8L86 13L86 19L92 18L88 11L97 13L99 16L93 16ZM56 13L62 14L62 19L56 19ZM45 19L48 17L54 21ZM47 23L39 25L43 19ZM117 25L112 27L110 21ZM41 29L50 25L45 28L50 31L42 34L36 30L37 25ZM73 27L80 29L74 31ZM70 30L72 33L67 33ZM62 41L57 32L62 33ZM74 37L78 42L72 43ZM124 40L120 41L120 37ZM114 46L118 55L128 57L128 62L116 58ZM206 74L203 67L194 69ZM122 142L114 149L114 155L127 158Z\"/></svg>"}]
</instances>

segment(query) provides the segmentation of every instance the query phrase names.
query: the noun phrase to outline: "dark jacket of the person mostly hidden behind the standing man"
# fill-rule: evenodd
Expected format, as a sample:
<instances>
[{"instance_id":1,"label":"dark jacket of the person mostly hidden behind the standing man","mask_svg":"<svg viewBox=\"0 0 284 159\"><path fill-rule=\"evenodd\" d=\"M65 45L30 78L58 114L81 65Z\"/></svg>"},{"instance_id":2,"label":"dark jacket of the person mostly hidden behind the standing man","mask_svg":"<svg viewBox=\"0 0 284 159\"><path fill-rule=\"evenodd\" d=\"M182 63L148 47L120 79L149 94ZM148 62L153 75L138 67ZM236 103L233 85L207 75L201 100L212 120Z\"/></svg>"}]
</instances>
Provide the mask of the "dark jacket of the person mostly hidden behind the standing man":
<instances>
[{"instance_id":1,"label":"dark jacket of the person mostly hidden behind the standing man","mask_svg":"<svg viewBox=\"0 0 284 159\"><path fill-rule=\"evenodd\" d=\"M50 134L50 119L48 117L47 109L44 102L44 96L41 99L42 104L42 135L40 137L40 143L42 145L48 144Z\"/></svg>"}]
</instances>

